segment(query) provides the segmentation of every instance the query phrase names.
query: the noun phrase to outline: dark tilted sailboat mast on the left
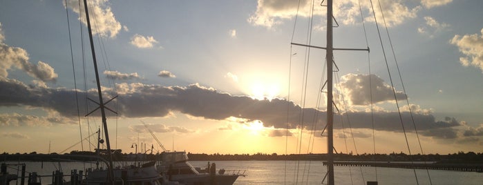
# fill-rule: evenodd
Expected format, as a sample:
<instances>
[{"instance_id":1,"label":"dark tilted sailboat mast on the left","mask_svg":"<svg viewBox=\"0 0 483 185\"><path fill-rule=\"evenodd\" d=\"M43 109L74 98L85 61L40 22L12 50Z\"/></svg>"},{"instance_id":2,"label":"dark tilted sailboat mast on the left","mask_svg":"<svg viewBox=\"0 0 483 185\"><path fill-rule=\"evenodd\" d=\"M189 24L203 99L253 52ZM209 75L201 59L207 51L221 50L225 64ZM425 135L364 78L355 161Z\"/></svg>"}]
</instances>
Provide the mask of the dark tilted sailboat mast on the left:
<instances>
[{"instance_id":1,"label":"dark tilted sailboat mast on the left","mask_svg":"<svg viewBox=\"0 0 483 185\"><path fill-rule=\"evenodd\" d=\"M102 115L102 126L104 127L104 133L106 135L106 146L107 146L107 153L109 155L109 178L108 180L113 180L114 178L114 171L113 171L113 155L111 155L111 144L109 143L109 134L107 131L107 121L106 121L106 111L104 110L104 101L102 101L102 90L101 90L101 83L99 80L99 71L97 70L97 60L95 59L95 50L94 50L94 41L92 36L91 30L91 21L89 20L89 12L87 8L87 0L84 0L84 9L86 10L86 21L87 21L87 28L89 32L89 40L91 41L91 52L94 62L94 70L95 70L95 81L97 82L97 93L99 93L99 106L101 109ZM99 150L100 148L97 148Z\"/></svg>"}]
</instances>

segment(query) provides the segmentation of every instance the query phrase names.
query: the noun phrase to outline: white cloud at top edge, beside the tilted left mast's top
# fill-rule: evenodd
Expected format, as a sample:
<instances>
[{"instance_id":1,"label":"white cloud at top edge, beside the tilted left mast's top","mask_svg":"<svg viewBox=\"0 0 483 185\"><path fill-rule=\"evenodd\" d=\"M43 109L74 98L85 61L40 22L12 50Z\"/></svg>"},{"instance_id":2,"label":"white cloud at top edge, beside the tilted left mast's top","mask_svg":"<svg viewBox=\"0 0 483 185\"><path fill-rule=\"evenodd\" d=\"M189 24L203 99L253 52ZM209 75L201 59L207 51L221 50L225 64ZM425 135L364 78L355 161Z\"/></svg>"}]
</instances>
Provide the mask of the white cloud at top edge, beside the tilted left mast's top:
<instances>
[{"instance_id":1,"label":"white cloud at top edge, beside the tilted left mast's top","mask_svg":"<svg viewBox=\"0 0 483 185\"><path fill-rule=\"evenodd\" d=\"M108 5L108 0L93 0L89 1L89 19L91 19L91 25L95 26L93 29L93 34L98 34L101 36L107 36L113 38L119 33L122 26L119 23L111 11L111 7ZM87 25L86 13L84 11L84 1L81 1L81 7L79 9L79 1L68 0L67 4L64 3L64 7L70 8L77 14L82 12L82 16L79 17L84 25Z\"/></svg>"}]
</instances>

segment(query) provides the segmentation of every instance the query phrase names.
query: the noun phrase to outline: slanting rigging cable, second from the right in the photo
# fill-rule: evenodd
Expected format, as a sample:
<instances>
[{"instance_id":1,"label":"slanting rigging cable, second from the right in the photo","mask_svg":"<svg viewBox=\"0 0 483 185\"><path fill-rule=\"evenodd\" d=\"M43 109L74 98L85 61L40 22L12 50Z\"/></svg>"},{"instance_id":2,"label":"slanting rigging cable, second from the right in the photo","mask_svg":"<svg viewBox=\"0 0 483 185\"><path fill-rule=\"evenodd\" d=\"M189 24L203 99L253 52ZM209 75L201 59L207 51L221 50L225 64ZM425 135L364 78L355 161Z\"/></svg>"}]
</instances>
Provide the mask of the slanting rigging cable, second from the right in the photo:
<instances>
[{"instance_id":1,"label":"slanting rigging cable, second from the right in the photo","mask_svg":"<svg viewBox=\"0 0 483 185\"><path fill-rule=\"evenodd\" d=\"M380 3L379 3L379 5L380 5ZM384 61L386 62L386 69L388 70L388 74L389 74L389 79L390 79L391 88L392 88L392 94L394 95L394 98L395 98L395 103L396 103L396 106L397 106L397 112L399 113L399 121L401 123L401 127L402 127L403 132L404 132L404 138L406 139L406 146L408 147L408 153L409 153L409 156L410 156L411 155L411 149L409 147L408 135L406 134L406 128L404 127L404 122L402 120L401 109L399 108L399 103L397 102L396 90L395 90L395 87L394 87L394 83L392 81L392 77L390 75L388 59L386 57L386 51L384 50L384 47L383 47L383 42L382 42L382 38L381 38L381 32L379 30L379 24L377 23L376 13L375 13L375 10L374 10L374 5L372 4L372 0L370 0L370 6L371 6L372 12L374 14L374 19L375 19L375 23L376 23L377 33L379 35L379 41L381 43L381 48L382 48L382 52L383 52L383 56L384 56ZM381 12L382 12L382 9L381 9ZM412 160L411 160L411 163L413 163ZM419 184L419 181L417 179L416 169L413 169L413 172L414 172L414 175L416 177L416 184Z\"/></svg>"}]
</instances>

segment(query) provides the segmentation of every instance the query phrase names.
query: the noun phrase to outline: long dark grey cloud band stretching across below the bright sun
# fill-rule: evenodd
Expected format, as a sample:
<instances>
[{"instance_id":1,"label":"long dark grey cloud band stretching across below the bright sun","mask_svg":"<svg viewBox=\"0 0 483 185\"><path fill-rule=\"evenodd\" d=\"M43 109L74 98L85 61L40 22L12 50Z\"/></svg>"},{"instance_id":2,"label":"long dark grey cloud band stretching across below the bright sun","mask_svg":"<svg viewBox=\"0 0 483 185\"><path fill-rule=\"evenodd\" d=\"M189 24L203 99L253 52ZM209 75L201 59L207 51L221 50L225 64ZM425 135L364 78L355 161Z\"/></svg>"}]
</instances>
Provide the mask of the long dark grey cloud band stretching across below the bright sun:
<instances>
[{"instance_id":1,"label":"long dark grey cloud band stretching across below the bright sun","mask_svg":"<svg viewBox=\"0 0 483 185\"><path fill-rule=\"evenodd\" d=\"M15 80L0 80L0 86L2 87L0 88L0 106L29 106L57 113L57 117L77 118L77 110L72 108L72 104L75 103L75 90L32 87ZM303 126L303 128L309 130L322 130L326 120L325 111L301 108L294 102L285 99L252 99L245 96L233 96L198 84L186 87L165 87L141 83L122 83L116 84L115 89L119 95L115 101L117 101L117 112L120 117L164 117L171 115L173 112L179 112L193 117L214 120L230 120L235 117L239 118L236 120L240 120L238 121L240 124L259 120L263 122L265 128L272 129L294 129ZM114 93L111 90L111 88L106 88L104 93L111 95ZM79 99L85 99L84 96L86 95L97 97L94 90L89 90L87 93L78 92L77 95ZM89 111L93 110L93 107L97 106L91 104ZM79 110L86 109L84 104L79 104ZM3 117L8 116L3 115ZM340 120L344 123L350 121L353 129L372 129L372 119L374 119L375 130L402 132L402 126L404 126L407 132L413 132L415 128L412 119L414 119L417 130L421 131L422 135L437 139L463 136L462 134L457 135L457 133L460 132L458 127L464 125L460 124L455 118L446 117L444 121L437 121L433 115L424 111L423 113L413 113L413 118L408 112L401 112L401 117L399 117L397 112L384 110L376 111L373 114L362 111L337 114L334 115L334 120L336 120L334 129L342 128ZM402 126L401 119L403 120ZM37 119L31 118L30 120ZM304 122L301 123L300 120L304 120ZM12 121L2 122L15 123ZM61 123L62 120L57 122ZM23 124L26 125L26 123ZM312 127L312 124L316 124L316 127ZM155 132L191 132L187 128L170 127L162 124L150 126L150 128ZM142 130L139 127L133 127L133 129L138 130L138 132ZM280 132L277 132L269 133L269 135L280 134Z\"/></svg>"}]
</instances>

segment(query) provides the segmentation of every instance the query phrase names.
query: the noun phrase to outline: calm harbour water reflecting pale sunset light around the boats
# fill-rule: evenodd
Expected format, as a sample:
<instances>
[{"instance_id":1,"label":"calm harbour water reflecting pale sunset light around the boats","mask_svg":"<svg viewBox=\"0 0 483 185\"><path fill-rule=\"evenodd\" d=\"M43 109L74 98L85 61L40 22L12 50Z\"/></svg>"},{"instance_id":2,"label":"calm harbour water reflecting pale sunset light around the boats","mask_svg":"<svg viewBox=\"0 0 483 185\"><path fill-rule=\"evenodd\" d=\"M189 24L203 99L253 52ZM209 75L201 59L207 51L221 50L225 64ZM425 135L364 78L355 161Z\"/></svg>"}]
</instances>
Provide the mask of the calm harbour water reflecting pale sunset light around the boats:
<instances>
[{"instance_id":1,"label":"calm harbour water reflecting pale sunset light around the boats","mask_svg":"<svg viewBox=\"0 0 483 185\"><path fill-rule=\"evenodd\" d=\"M8 162L15 164L17 162ZM193 166L204 167L207 162L190 162ZM216 168L246 171L246 177L238 177L235 184L321 184L326 168L322 162L284 162L284 161L223 161L215 162ZM40 175L50 175L59 169L59 163L26 162L26 171L36 171ZM71 169L89 168L91 164L62 162L61 169L69 174ZM285 168L286 166L286 168ZM287 169L287 170L285 170ZM297 170L298 169L298 170ZM336 184L366 184L376 180L374 167L335 166ZM17 173L12 168L9 173ZM297 173L298 172L298 173ZM430 184L426 170L416 170L419 184ZM457 171L429 171L433 184L483 184L483 174ZM42 184L51 179L44 177ZM412 169L377 168L379 184L417 184ZM15 184L15 182L13 183Z\"/></svg>"}]
</instances>

